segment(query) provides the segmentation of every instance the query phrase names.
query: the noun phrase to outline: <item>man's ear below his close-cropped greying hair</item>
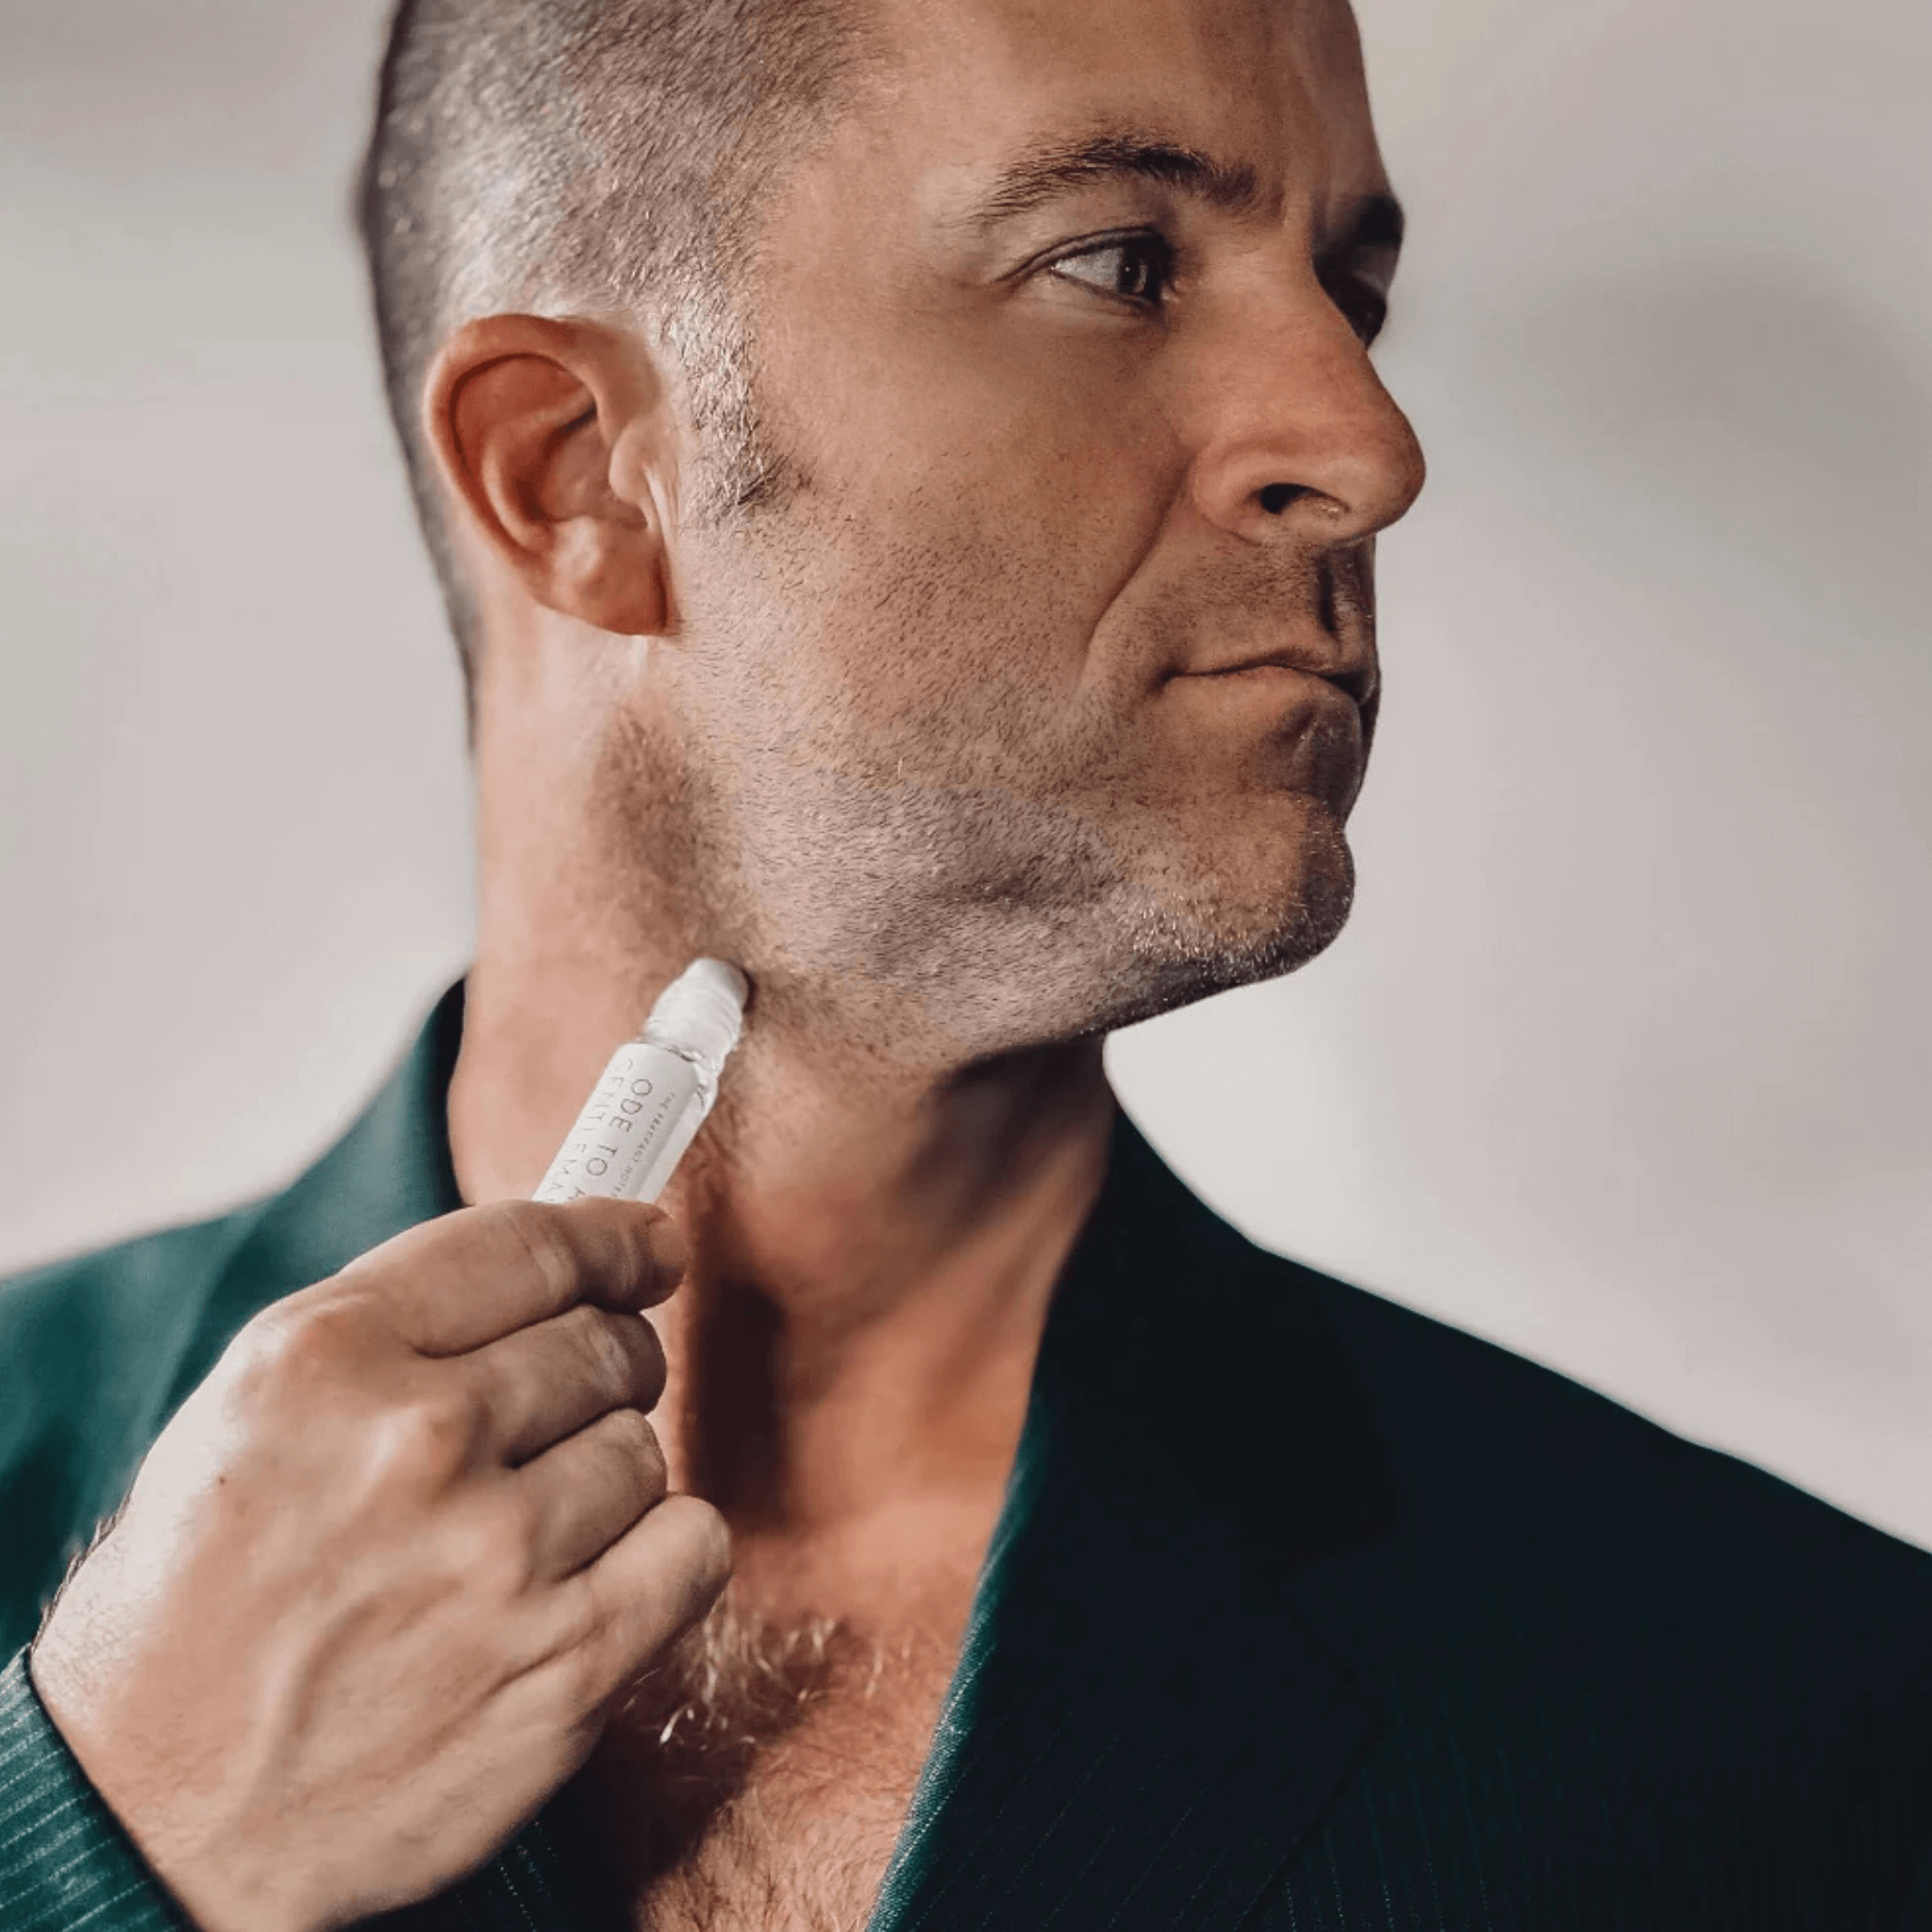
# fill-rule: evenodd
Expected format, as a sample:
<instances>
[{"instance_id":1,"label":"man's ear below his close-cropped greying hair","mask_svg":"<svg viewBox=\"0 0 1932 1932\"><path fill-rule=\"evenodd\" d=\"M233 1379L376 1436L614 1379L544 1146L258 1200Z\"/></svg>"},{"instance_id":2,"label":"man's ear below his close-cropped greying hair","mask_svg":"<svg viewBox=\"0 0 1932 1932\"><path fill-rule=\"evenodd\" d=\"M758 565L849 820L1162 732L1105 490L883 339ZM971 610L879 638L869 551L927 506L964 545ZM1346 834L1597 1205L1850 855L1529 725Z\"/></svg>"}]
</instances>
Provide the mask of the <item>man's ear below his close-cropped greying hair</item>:
<instances>
[{"instance_id":1,"label":"man's ear below his close-cropped greying hair","mask_svg":"<svg viewBox=\"0 0 1932 1932\"><path fill-rule=\"evenodd\" d=\"M423 429L469 533L551 611L624 636L676 626L676 435L616 328L489 315L442 344Z\"/></svg>"}]
</instances>

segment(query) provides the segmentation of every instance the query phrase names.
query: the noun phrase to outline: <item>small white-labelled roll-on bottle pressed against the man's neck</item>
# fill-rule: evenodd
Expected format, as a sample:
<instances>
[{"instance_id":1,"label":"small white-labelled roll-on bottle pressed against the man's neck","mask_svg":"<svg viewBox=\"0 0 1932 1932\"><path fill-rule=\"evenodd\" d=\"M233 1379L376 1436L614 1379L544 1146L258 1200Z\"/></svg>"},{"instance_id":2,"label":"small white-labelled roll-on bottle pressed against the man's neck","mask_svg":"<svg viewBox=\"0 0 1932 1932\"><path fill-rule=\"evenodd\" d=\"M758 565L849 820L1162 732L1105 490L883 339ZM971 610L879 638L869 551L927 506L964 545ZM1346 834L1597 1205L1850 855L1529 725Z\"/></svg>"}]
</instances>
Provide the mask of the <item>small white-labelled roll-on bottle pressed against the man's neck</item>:
<instances>
[{"instance_id":1,"label":"small white-labelled roll-on bottle pressed against the man's neck","mask_svg":"<svg viewBox=\"0 0 1932 1932\"><path fill-rule=\"evenodd\" d=\"M750 995L736 966L692 960L657 997L643 1032L611 1055L535 1198L655 1202L711 1113Z\"/></svg>"}]
</instances>

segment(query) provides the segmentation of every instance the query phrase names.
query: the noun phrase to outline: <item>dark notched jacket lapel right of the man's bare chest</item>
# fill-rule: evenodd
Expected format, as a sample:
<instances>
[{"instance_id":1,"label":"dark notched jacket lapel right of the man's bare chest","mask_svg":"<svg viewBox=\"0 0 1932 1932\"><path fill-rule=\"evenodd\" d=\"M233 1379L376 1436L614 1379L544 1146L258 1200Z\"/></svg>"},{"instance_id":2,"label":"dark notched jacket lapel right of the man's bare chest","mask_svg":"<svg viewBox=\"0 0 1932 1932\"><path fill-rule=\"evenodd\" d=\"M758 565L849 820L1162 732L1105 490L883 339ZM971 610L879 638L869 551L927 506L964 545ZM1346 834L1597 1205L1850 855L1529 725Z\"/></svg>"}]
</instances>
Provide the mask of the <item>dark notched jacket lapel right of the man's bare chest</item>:
<instances>
[{"instance_id":1,"label":"dark notched jacket lapel right of the man's bare chest","mask_svg":"<svg viewBox=\"0 0 1932 1932\"><path fill-rule=\"evenodd\" d=\"M1385 1513L1293 1271L1122 1121L871 1932L1235 1926L1376 1725L1294 1563Z\"/></svg>"}]
</instances>

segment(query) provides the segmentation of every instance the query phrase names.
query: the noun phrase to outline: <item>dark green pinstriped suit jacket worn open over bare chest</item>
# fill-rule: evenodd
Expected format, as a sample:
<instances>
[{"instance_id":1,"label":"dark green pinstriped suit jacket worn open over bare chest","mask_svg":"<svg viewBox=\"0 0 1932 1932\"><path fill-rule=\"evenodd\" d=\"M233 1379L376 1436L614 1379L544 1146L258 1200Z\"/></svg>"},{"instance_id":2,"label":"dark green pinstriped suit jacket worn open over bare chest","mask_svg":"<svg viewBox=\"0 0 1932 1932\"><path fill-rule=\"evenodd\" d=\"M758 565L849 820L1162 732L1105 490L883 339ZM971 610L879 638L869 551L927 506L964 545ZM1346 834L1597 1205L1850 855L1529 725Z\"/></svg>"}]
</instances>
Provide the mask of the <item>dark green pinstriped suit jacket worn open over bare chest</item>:
<instances>
[{"instance_id":1,"label":"dark green pinstriped suit jacket worn open over bare chest","mask_svg":"<svg viewBox=\"0 0 1932 1932\"><path fill-rule=\"evenodd\" d=\"M257 1308L458 1204L452 995L286 1194L0 1289L0 1656ZM0 1924L178 1920L15 1662ZM568 1793L404 1915L612 1922ZM1932 1557L1250 1246L1122 1122L875 1932L1932 1928Z\"/></svg>"}]
</instances>

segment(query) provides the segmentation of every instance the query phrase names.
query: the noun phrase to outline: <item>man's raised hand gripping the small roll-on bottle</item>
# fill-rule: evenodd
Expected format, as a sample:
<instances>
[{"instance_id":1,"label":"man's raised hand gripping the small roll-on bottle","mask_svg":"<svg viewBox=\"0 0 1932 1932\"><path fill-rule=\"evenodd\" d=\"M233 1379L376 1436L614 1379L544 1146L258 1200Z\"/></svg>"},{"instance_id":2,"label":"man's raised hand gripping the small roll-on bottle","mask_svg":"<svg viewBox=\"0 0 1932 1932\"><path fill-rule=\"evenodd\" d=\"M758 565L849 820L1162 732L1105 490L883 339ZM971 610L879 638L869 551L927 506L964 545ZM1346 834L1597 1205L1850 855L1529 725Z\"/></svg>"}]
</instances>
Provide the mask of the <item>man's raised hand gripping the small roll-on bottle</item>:
<instances>
[{"instance_id":1,"label":"man's raised hand gripping the small roll-on bottle","mask_svg":"<svg viewBox=\"0 0 1932 1932\"><path fill-rule=\"evenodd\" d=\"M207 1932L485 1862L724 1582L665 1495L655 1208L473 1208L257 1316L155 1443L33 1681Z\"/></svg>"}]
</instances>

